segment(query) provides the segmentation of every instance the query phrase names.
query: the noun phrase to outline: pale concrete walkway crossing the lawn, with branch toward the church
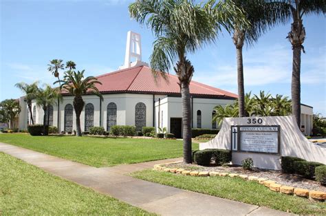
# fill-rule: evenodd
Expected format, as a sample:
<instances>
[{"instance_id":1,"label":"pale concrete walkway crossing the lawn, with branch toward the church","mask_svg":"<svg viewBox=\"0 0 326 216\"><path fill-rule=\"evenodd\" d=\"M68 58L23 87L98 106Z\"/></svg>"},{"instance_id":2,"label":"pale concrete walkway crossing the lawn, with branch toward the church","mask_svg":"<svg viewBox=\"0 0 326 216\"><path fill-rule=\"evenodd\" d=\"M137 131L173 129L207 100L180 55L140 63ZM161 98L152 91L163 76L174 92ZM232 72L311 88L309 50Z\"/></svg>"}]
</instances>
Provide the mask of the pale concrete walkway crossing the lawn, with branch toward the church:
<instances>
[{"instance_id":1,"label":"pale concrete walkway crossing the lawn, with branch toward the church","mask_svg":"<svg viewBox=\"0 0 326 216\"><path fill-rule=\"evenodd\" d=\"M0 151L66 180L160 215L287 215L270 208L184 191L123 175L178 159L95 168L1 142Z\"/></svg>"}]
</instances>

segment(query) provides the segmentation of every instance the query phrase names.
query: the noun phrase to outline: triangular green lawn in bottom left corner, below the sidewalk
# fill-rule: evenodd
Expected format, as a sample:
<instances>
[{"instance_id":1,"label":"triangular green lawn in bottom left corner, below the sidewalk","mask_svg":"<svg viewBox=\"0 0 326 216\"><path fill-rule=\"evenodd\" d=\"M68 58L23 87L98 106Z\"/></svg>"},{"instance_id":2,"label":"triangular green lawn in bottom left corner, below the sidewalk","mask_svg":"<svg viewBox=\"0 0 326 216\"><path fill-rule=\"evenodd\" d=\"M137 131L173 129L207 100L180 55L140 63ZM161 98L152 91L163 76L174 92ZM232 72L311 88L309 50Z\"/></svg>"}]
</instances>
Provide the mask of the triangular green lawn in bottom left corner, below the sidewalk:
<instances>
[{"instance_id":1,"label":"triangular green lawn in bottom left corner, below the sidewalk","mask_svg":"<svg viewBox=\"0 0 326 216\"><path fill-rule=\"evenodd\" d=\"M149 215L0 153L0 215Z\"/></svg>"}]
</instances>

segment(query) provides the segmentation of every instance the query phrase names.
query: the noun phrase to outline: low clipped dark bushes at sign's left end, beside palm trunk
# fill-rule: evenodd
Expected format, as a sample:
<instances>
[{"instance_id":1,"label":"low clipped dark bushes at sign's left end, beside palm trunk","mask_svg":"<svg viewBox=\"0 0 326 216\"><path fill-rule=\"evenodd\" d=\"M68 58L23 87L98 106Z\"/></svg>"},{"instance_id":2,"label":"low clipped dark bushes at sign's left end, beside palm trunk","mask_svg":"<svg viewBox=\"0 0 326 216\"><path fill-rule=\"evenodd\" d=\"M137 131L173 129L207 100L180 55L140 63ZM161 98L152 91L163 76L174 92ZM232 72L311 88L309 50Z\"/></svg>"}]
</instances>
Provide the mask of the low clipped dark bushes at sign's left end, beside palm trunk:
<instances>
[{"instance_id":1,"label":"low clipped dark bushes at sign's left end, beside palm trunk","mask_svg":"<svg viewBox=\"0 0 326 216\"><path fill-rule=\"evenodd\" d=\"M195 151L194 160L199 165L207 166L210 164L212 159L215 164L219 166L221 164L229 163L232 160L232 152L226 149L204 149Z\"/></svg>"}]
</instances>

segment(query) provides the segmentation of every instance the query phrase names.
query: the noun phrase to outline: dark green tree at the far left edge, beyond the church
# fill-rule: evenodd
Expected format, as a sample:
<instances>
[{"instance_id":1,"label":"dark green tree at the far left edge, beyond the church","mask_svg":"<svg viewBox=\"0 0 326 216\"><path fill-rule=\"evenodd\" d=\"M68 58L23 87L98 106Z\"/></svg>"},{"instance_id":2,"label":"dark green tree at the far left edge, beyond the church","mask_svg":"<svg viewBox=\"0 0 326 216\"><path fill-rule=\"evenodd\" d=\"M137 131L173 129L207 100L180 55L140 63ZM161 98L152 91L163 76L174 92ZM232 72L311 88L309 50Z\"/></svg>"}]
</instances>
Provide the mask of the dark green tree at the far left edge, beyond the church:
<instances>
[{"instance_id":1,"label":"dark green tree at the far left edge, beyond the church","mask_svg":"<svg viewBox=\"0 0 326 216\"><path fill-rule=\"evenodd\" d=\"M17 128L16 120L21 112L19 102L14 99L7 99L0 102L1 122L10 123L10 129Z\"/></svg>"}]
</instances>

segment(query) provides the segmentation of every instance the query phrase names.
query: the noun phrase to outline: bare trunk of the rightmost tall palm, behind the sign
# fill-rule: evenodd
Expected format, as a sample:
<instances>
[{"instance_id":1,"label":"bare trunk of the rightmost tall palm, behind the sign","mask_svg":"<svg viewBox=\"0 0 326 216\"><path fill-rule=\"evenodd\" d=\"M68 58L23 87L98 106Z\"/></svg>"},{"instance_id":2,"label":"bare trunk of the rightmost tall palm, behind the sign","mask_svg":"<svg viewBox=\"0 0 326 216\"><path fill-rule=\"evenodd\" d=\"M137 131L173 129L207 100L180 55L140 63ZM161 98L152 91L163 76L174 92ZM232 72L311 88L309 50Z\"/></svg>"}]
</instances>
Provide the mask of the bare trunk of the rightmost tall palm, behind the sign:
<instances>
[{"instance_id":1,"label":"bare trunk of the rightmost tall palm, behind the sign","mask_svg":"<svg viewBox=\"0 0 326 216\"><path fill-rule=\"evenodd\" d=\"M293 47L292 63L292 116L296 118L296 124L301 128L301 47Z\"/></svg>"}]
</instances>

